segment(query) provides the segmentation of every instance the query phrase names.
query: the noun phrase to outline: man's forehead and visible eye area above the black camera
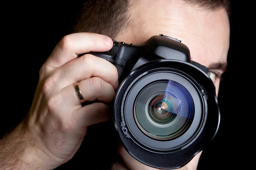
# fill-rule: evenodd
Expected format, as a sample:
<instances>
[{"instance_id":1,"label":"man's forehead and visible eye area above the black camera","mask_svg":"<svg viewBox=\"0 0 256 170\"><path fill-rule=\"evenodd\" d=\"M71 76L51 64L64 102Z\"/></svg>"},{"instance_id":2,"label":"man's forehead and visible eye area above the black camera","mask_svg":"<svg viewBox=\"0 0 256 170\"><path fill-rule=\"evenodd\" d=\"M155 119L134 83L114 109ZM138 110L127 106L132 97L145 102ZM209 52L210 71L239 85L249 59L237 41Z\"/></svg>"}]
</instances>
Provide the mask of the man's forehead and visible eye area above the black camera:
<instances>
[{"instance_id":1,"label":"man's forehead and visible eye area above the black camera","mask_svg":"<svg viewBox=\"0 0 256 170\"><path fill-rule=\"evenodd\" d=\"M140 44L154 35L166 34L188 46L192 60L205 65L216 93L227 62L230 27L225 9L206 11L180 1L131 3L128 27L115 39Z\"/></svg>"}]
</instances>

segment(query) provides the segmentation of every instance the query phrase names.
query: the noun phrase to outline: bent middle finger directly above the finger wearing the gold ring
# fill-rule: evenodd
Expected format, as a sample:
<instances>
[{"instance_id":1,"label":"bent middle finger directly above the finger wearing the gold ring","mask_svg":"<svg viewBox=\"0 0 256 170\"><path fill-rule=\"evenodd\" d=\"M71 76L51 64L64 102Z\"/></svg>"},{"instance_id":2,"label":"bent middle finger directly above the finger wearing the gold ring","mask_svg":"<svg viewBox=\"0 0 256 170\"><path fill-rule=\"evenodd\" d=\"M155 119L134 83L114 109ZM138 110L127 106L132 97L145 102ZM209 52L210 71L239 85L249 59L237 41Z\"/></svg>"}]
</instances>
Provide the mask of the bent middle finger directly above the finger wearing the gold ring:
<instances>
[{"instance_id":1,"label":"bent middle finger directly above the finger wearing the gold ring","mask_svg":"<svg viewBox=\"0 0 256 170\"><path fill-rule=\"evenodd\" d=\"M118 87L116 67L105 59L86 54L58 68L53 77L58 77L60 88L90 77L100 77L115 89Z\"/></svg>"}]
</instances>

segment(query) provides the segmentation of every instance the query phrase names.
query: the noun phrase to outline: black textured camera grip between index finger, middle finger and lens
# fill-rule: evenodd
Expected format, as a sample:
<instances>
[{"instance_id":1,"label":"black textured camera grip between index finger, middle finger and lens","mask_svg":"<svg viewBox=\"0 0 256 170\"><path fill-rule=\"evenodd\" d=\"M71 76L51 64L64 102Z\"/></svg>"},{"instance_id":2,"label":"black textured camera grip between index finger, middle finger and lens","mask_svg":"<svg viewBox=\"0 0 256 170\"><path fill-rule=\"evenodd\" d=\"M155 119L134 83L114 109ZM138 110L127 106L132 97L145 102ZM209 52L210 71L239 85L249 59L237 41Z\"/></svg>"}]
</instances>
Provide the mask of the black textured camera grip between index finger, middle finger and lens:
<instances>
[{"instance_id":1,"label":"black textured camera grip between index finger, middle finger and lens","mask_svg":"<svg viewBox=\"0 0 256 170\"><path fill-rule=\"evenodd\" d=\"M111 62L116 67L116 70L117 70L117 73L118 73L118 79L120 78L120 76L121 76L121 74L122 74L122 72L124 71L124 68L125 68L125 60L123 60L121 58L118 58L118 57L116 57L116 59L111 59L111 58L108 58L108 57L104 57L100 53L95 53L95 52L90 52L90 54L93 54L97 57L103 58L103 59L108 60L109 62Z\"/></svg>"}]
</instances>

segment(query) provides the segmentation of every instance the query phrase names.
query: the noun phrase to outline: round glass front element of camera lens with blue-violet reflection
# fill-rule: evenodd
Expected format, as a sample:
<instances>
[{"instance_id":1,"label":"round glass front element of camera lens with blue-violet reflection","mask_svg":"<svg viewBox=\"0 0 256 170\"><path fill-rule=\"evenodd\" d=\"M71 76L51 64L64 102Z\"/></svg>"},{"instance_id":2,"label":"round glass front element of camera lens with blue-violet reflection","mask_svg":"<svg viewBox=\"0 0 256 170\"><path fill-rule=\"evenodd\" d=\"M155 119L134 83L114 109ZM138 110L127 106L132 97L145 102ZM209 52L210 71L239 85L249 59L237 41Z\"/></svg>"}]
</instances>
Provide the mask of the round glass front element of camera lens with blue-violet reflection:
<instances>
[{"instance_id":1,"label":"round glass front element of camera lens with blue-violet reflection","mask_svg":"<svg viewBox=\"0 0 256 170\"><path fill-rule=\"evenodd\" d=\"M192 123L194 102L189 91L173 80L146 85L134 102L134 119L148 137L170 140L181 136Z\"/></svg>"}]
</instances>

